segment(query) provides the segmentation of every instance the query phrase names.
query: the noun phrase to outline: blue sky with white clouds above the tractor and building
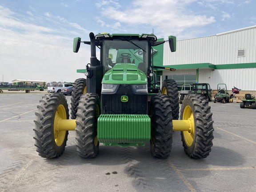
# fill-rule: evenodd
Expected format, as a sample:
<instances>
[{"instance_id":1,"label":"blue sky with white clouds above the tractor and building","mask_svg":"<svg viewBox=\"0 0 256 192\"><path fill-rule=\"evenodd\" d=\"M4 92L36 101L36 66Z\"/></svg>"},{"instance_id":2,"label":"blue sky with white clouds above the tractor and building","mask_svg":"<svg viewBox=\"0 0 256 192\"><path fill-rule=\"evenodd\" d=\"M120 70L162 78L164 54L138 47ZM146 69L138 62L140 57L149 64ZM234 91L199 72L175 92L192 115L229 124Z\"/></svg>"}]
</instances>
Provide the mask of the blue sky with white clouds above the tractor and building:
<instances>
[{"instance_id":1,"label":"blue sky with white clouds above the tractor and building","mask_svg":"<svg viewBox=\"0 0 256 192\"><path fill-rule=\"evenodd\" d=\"M72 52L89 32L152 33L177 40L256 25L255 0L0 0L0 82L74 82L90 47Z\"/></svg>"}]
</instances>

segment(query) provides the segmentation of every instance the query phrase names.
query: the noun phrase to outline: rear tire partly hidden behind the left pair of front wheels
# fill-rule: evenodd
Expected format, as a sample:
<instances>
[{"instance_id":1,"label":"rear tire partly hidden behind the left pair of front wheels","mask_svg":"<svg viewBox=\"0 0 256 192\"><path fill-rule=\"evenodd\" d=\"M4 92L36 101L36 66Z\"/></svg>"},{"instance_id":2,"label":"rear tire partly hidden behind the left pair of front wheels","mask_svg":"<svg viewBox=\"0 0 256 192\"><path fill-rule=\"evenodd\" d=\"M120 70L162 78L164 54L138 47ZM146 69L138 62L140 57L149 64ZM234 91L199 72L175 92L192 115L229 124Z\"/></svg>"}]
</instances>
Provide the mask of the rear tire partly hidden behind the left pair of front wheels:
<instances>
[{"instance_id":1,"label":"rear tire partly hidden behind the left pair of front wheels","mask_svg":"<svg viewBox=\"0 0 256 192\"><path fill-rule=\"evenodd\" d=\"M76 112L80 96L86 93L86 79L80 78L73 84L71 93L71 119L76 119Z\"/></svg>"}]
</instances>

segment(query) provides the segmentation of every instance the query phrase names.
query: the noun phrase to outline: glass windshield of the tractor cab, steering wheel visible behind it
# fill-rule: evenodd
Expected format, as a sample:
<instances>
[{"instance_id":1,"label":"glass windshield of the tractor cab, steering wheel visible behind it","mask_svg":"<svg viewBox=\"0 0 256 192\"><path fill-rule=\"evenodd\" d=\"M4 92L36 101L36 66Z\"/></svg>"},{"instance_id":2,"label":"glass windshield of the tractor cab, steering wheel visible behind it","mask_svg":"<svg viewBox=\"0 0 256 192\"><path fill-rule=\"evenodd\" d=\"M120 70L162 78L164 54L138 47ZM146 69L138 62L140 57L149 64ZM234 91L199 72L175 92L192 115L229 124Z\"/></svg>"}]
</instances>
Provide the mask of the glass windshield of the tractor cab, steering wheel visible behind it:
<instances>
[{"instance_id":1,"label":"glass windshield of the tractor cab, steering wheel visible behind it","mask_svg":"<svg viewBox=\"0 0 256 192\"><path fill-rule=\"evenodd\" d=\"M149 63L148 41L139 40L104 40L102 50L102 64L105 72L117 63L135 64L146 73Z\"/></svg>"}]
</instances>

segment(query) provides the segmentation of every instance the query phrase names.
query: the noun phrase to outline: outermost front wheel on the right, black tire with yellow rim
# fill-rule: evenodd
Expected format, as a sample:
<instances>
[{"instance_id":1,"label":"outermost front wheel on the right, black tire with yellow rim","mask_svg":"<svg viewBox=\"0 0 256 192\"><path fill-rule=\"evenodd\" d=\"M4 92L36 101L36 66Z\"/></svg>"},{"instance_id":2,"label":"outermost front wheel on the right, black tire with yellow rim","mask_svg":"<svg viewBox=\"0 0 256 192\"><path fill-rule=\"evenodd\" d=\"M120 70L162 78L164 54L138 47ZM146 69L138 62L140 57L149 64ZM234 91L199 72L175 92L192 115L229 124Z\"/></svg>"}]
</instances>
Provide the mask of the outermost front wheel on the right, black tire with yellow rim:
<instances>
[{"instance_id":1,"label":"outermost front wheel on the right, black tire with yellow rim","mask_svg":"<svg viewBox=\"0 0 256 192\"><path fill-rule=\"evenodd\" d=\"M181 132L184 151L190 158L205 158L211 152L213 140L213 120L211 107L203 96L185 96L180 111L181 120L192 124L190 132Z\"/></svg>"}]
</instances>

